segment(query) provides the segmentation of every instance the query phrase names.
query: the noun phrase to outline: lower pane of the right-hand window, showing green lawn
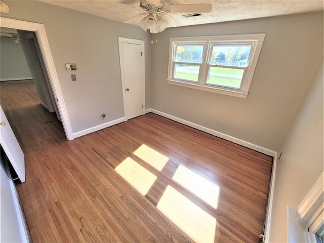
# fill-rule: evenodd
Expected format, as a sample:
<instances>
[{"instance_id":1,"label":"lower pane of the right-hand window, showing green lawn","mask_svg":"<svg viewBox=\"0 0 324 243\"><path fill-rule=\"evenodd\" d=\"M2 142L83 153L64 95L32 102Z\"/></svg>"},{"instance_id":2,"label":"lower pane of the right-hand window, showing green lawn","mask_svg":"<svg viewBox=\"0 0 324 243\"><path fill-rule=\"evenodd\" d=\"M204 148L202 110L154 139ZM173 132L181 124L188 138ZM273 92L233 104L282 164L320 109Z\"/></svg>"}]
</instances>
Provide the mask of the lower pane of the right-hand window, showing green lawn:
<instances>
[{"instance_id":1,"label":"lower pane of the right-hand window, showing green lawn","mask_svg":"<svg viewBox=\"0 0 324 243\"><path fill-rule=\"evenodd\" d=\"M210 67L207 77L207 84L238 89L241 85L243 73L244 69Z\"/></svg>"}]
</instances>

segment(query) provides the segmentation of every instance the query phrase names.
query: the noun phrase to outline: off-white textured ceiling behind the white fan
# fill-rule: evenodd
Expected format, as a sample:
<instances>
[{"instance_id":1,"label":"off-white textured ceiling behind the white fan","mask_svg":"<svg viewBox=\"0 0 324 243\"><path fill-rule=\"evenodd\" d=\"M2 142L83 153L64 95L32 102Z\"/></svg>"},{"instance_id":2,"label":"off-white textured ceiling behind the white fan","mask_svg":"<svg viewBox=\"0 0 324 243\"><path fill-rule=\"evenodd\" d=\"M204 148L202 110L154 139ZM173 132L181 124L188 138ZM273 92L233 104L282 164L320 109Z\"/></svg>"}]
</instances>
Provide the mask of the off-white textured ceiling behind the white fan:
<instances>
[{"instance_id":1,"label":"off-white textured ceiling behind the white fan","mask_svg":"<svg viewBox=\"0 0 324 243\"><path fill-rule=\"evenodd\" d=\"M143 13L139 0L37 0L55 6L125 22ZM152 0L156 2L156 0ZM232 20L253 19L323 10L322 0L167 0L166 5L210 3L213 10L203 16L184 18L187 13L170 13L181 26L217 23ZM136 19L131 24L137 24Z\"/></svg>"}]
</instances>

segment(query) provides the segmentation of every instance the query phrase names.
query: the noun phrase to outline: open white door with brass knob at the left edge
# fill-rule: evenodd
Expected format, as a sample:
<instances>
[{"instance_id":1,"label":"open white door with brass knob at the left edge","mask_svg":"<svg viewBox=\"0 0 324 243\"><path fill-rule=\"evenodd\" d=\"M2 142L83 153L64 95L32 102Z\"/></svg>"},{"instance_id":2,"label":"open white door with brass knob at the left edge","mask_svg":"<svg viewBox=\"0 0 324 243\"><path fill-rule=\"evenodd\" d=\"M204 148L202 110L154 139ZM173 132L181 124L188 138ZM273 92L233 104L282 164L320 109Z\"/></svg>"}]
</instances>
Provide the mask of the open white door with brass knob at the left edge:
<instances>
[{"instance_id":1,"label":"open white door with brass knob at the left edge","mask_svg":"<svg viewBox=\"0 0 324 243\"><path fill-rule=\"evenodd\" d=\"M21 182L25 182L25 155L0 105L0 144Z\"/></svg>"}]
</instances>

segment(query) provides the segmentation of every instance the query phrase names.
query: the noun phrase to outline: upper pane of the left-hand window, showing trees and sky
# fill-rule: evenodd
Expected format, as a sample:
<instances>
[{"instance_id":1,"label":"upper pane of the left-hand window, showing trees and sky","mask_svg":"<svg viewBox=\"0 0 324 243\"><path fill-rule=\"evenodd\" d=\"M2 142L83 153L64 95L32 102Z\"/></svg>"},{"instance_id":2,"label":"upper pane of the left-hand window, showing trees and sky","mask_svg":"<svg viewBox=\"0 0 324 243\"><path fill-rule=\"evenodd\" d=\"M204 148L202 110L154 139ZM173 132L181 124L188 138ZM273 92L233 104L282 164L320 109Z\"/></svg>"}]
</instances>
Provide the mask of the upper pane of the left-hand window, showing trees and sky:
<instances>
[{"instance_id":1,"label":"upper pane of the left-hand window, showing trees and sky","mask_svg":"<svg viewBox=\"0 0 324 243\"><path fill-rule=\"evenodd\" d=\"M177 46L176 62L201 63L204 46Z\"/></svg>"}]
</instances>

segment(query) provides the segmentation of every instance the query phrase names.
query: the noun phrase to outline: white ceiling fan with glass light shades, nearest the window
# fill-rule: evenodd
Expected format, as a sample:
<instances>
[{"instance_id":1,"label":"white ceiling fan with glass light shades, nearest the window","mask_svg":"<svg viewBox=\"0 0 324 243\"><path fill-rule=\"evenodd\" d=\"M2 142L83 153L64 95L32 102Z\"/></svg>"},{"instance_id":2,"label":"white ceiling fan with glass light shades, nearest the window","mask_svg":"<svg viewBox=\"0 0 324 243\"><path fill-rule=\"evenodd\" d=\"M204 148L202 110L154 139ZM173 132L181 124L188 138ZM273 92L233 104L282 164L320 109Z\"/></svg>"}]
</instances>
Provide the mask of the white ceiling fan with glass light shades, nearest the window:
<instances>
[{"instance_id":1,"label":"white ceiling fan with glass light shades, nearest the window","mask_svg":"<svg viewBox=\"0 0 324 243\"><path fill-rule=\"evenodd\" d=\"M211 4L166 5L165 0L140 0L140 7L145 12L135 15L125 23L138 22L138 26L144 31L149 29L151 33L180 26L180 22L170 15L172 13L209 13L213 8Z\"/></svg>"}]
</instances>

